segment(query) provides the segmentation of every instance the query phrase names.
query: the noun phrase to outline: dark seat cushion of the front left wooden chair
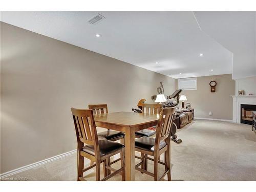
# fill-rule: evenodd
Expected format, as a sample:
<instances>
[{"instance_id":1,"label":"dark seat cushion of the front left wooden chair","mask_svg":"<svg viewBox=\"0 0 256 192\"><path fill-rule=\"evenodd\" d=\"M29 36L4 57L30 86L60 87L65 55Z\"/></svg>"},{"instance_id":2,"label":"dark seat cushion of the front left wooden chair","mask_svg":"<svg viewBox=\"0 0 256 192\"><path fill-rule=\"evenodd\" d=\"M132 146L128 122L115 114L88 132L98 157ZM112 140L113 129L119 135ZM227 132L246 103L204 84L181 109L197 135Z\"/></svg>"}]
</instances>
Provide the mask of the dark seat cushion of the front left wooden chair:
<instances>
[{"instance_id":1,"label":"dark seat cushion of the front left wooden chair","mask_svg":"<svg viewBox=\"0 0 256 192\"><path fill-rule=\"evenodd\" d=\"M109 140L105 140L105 139L99 140L100 156L104 156L111 152L118 151L118 150L120 150L120 148L123 148L123 147L124 147L124 145L114 142L114 141L109 141ZM82 148L82 151L95 156L94 145L86 145Z\"/></svg>"}]
</instances>

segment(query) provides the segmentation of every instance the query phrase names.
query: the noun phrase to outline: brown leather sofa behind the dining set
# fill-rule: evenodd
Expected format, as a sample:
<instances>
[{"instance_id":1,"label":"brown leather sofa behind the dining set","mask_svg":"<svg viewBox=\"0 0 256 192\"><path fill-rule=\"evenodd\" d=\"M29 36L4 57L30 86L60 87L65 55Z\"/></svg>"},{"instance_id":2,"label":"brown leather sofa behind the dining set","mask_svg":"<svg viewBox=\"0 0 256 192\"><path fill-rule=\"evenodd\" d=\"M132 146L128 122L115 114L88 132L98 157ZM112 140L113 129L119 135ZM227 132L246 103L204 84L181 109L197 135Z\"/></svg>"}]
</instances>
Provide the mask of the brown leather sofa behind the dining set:
<instances>
[{"instance_id":1,"label":"brown leather sofa behind the dining set","mask_svg":"<svg viewBox=\"0 0 256 192\"><path fill-rule=\"evenodd\" d=\"M177 126L177 129L181 129L188 123L192 122L194 119L194 109L179 109L177 107L175 112L176 119L174 123Z\"/></svg>"}]
</instances>

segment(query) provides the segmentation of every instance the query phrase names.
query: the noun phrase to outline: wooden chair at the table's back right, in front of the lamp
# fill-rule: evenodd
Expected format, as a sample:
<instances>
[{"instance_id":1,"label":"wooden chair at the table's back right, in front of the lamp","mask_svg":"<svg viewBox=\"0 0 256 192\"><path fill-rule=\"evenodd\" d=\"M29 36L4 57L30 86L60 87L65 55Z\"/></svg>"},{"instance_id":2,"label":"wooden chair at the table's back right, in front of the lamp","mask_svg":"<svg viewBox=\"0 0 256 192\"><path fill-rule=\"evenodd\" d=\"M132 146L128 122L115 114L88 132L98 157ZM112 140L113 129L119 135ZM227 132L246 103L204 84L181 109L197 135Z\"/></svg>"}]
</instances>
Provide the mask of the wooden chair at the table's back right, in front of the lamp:
<instances>
[{"instance_id":1,"label":"wooden chair at the table's back right, in front of the lamp","mask_svg":"<svg viewBox=\"0 0 256 192\"><path fill-rule=\"evenodd\" d=\"M150 104L150 103L143 103L142 105L142 113L145 114L160 114L162 110L162 104ZM138 132L135 132L135 138L140 137L152 137L156 134L156 131L154 130L140 130Z\"/></svg>"}]
</instances>

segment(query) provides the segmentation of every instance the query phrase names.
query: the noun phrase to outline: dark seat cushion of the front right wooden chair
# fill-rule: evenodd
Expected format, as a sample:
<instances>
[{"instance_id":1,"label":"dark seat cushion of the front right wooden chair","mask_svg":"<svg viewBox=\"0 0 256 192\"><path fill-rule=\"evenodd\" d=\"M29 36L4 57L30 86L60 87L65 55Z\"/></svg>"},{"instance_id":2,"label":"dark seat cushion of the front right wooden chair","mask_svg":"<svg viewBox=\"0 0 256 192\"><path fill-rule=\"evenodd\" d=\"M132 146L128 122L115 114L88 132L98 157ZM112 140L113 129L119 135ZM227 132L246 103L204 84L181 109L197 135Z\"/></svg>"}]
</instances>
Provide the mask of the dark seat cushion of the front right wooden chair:
<instances>
[{"instance_id":1,"label":"dark seat cushion of the front right wooden chair","mask_svg":"<svg viewBox=\"0 0 256 192\"><path fill-rule=\"evenodd\" d=\"M166 146L166 143L164 141L160 141L159 150L161 150L161 148L163 148L165 146ZM155 138L141 137L139 139L136 139L135 140L135 148L140 148L141 150L154 152L154 150L155 150Z\"/></svg>"}]
</instances>

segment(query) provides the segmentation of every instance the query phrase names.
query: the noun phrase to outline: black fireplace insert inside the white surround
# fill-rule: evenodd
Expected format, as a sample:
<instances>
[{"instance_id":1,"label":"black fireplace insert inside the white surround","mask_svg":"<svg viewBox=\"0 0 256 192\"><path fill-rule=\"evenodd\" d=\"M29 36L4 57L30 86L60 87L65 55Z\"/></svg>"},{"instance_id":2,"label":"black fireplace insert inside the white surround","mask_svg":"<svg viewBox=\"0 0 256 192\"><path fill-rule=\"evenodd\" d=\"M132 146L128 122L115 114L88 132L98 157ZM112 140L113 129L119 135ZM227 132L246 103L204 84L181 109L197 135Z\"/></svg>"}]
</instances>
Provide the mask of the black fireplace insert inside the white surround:
<instances>
[{"instance_id":1,"label":"black fireplace insert inside the white surround","mask_svg":"<svg viewBox=\"0 0 256 192\"><path fill-rule=\"evenodd\" d=\"M252 124L252 111L256 111L256 104L241 104L241 123Z\"/></svg>"}]
</instances>

